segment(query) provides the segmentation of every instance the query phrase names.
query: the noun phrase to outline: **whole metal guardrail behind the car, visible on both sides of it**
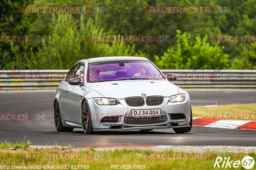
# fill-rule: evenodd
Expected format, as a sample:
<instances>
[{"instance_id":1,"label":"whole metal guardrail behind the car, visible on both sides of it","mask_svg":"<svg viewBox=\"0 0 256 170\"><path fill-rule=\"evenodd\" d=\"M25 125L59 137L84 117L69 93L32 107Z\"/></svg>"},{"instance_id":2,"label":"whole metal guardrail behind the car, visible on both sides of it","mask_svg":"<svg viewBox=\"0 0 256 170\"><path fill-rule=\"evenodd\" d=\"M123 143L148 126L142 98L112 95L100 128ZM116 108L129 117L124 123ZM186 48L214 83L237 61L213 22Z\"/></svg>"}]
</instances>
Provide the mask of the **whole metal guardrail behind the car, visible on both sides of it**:
<instances>
[{"instance_id":1,"label":"whole metal guardrail behind the car, visible on both sides of it","mask_svg":"<svg viewBox=\"0 0 256 170\"><path fill-rule=\"evenodd\" d=\"M256 88L256 70L162 70L181 88ZM0 70L0 90L56 89L68 70Z\"/></svg>"}]
</instances>

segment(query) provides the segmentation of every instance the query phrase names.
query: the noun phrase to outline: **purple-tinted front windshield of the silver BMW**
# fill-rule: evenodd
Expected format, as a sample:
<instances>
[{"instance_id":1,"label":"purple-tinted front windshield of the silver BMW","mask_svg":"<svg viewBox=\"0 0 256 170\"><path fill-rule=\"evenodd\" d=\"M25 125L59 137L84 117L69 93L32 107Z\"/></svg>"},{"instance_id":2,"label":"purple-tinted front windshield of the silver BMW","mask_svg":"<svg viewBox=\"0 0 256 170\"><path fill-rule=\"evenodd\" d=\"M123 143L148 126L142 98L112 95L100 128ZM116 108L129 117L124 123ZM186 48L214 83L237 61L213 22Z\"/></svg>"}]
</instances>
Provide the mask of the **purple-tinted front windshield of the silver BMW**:
<instances>
[{"instance_id":1,"label":"purple-tinted front windshield of the silver BMW","mask_svg":"<svg viewBox=\"0 0 256 170\"><path fill-rule=\"evenodd\" d=\"M89 64L88 82L117 80L164 80L149 61L108 61Z\"/></svg>"}]
</instances>

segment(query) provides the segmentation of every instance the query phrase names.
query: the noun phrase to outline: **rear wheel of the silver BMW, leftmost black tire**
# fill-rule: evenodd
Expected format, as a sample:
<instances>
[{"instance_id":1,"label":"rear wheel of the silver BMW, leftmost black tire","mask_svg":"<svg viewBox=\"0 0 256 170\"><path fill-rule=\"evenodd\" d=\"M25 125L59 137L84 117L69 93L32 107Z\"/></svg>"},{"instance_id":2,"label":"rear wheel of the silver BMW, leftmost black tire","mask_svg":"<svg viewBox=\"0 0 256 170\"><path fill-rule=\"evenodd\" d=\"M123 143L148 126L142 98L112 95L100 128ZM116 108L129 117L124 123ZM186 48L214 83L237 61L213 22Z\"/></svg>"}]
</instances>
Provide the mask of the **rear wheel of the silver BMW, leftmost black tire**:
<instances>
[{"instance_id":1,"label":"rear wheel of the silver BMW, leftmost black tire","mask_svg":"<svg viewBox=\"0 0 256 170\"><path fill-rule=\"evenodd\" d=\"M58 101L54 102L54 124L57 131L73 131L74 128L71 127L65 127L62 124L61 116L60 116L60 106Z\"/></svg>"}]
</instances>

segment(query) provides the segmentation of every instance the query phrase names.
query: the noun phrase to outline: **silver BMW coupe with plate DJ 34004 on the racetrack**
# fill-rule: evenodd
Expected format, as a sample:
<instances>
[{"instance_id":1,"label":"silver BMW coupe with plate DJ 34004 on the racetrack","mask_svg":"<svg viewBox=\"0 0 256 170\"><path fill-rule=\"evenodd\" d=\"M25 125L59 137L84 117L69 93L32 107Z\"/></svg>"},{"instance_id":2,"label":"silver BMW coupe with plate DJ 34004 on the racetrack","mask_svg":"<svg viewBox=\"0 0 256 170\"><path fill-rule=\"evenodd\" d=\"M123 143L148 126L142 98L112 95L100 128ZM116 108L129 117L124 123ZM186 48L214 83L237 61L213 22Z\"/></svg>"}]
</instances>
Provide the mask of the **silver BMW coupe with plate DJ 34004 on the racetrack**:
<instances>
[{"instance_id":1,"label":"silver BMW coupe with plate DJ 34004 on the racetrack","mask_svg":"<svg viewBox=\"0 0 256 170\"><path fill-rule=\"evenodd\" d=\"M188 92L170 81L143 57L98 57L78 61L57 88L54 122L57 131L82 128L124 131L192 128Z\"/></svg>"}]
</instances>

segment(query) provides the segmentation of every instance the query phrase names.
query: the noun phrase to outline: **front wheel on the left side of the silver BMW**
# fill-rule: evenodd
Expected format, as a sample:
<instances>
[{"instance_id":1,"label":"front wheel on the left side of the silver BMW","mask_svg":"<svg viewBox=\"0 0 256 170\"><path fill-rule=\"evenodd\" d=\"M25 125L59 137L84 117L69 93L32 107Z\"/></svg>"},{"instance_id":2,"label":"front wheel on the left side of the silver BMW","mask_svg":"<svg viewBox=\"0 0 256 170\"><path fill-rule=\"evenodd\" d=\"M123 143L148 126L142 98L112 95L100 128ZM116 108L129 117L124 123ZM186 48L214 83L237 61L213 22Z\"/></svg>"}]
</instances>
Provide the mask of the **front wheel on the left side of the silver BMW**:
<instances>
[{"instance_id":1,"label":"front wheel on the left side of the silver BMW","mask_svg":"<svg viewBox=\"0 0 256 170\"><path fill-rule=\"evenodd\" d=\"M82 127L85 134L93 133L91 113L86 101L82 104Z\"/></svg>"}]
</instances>

